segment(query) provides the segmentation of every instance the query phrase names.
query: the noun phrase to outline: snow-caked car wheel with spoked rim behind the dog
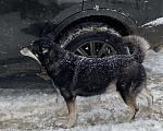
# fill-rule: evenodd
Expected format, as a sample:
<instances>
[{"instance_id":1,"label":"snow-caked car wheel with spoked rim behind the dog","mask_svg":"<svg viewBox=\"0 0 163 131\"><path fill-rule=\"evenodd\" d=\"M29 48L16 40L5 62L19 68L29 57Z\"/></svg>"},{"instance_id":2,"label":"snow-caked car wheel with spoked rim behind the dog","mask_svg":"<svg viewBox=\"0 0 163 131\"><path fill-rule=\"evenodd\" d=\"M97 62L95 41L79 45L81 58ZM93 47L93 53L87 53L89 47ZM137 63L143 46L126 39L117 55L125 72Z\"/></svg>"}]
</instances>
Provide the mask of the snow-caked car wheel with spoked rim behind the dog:
<instances>
[{"instance_id":1,"label":"snow-caked car wheel with spoked rim behind the dog","mask_svg":"<svg viewBox=\"0 0 163 131\"><path fill-rule=\"evenodd\" d=\"M62 35L61 47L76 55L102 58L127 53L118 44L121 35L106 24L99 22L82 23Z\"/></svg>"}]
</instances>

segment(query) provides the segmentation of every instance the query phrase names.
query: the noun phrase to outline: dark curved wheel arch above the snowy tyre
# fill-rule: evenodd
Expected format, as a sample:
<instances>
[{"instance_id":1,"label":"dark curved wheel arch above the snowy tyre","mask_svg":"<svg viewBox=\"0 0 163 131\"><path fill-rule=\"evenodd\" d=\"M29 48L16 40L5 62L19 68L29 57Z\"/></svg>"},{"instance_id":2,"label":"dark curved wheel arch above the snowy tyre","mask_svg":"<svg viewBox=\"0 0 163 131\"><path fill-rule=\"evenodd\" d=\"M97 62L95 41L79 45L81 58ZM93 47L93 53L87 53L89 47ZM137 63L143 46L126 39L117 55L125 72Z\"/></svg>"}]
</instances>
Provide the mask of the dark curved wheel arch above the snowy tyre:
<instances>
[{"instance_id":1,"label":"dark curved wheel arch above the snowy tyre","mask_svg":"<svg viewBox=\"0 0 163 131\"><path fill-rule=\"evenodd\" d=\"M51 21L52 22L52 21ZM49 34L50 38L54 41L59 41L60 37L65 31L71 29L73 26L79 23L86 22L102 22L117 31L122 36L133 34L137 28L135 22L124 13L110 11L108 9L100 9L99 11L87 10L73 14L62 21L55 29ZM52 24L52 23L50 23Z\"/></svg>"}]
</instances>

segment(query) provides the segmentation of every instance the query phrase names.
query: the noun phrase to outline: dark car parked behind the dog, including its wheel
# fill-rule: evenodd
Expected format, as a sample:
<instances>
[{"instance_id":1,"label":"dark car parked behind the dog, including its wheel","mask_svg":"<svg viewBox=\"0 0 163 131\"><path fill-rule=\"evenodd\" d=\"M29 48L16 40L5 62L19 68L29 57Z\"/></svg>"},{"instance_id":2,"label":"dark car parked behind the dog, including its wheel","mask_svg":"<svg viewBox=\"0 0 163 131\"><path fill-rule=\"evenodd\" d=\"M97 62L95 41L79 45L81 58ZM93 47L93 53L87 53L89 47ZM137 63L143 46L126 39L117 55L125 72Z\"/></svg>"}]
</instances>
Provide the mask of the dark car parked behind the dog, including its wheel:
<instances>
[{"instance_id":1,"label":"dark car parked behind the dog, including its wheel","mask_svg":"<svg viewBox=\"0 0 163 131\"><path fill-rule=\"evenodd\" d=\"M1 0L0 78L38 71L20 47L48 37L86 57L128 53L108 34L145 37L151 49L163 44L162 0ZM131 52L131 51L130 51Z\"/></svg>"}]
</instances>

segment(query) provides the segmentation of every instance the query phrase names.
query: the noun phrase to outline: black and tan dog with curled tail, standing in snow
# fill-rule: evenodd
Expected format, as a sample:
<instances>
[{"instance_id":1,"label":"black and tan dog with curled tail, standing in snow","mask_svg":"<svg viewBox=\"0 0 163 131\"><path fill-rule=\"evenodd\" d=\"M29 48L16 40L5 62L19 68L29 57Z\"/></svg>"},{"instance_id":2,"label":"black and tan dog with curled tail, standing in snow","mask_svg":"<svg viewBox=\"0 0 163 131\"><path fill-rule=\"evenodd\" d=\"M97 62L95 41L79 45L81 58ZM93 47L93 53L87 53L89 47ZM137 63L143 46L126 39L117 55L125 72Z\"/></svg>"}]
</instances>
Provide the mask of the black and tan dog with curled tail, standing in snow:
<instances>
[{"instance_id":1,"label":"black and tan dog with curled tail, standing in snow","mask_svg":"<svg viewBox=\"0 0 163 131\"><path fill-rule=\"evenodd\" d=\"M146 71L143 59L149 49L148 41L136 35L116 37L115 44L134 46L131 55L115 55L105 58L86 58L61 48L50 39L41 38L29 46L22 47L21 53L37 60L46 70L64 98L59 115L68 109L68 121L63 128L72 128L76 121L76 96L100 95L110 91L112 85L124 103L130 107L131 114L124 120L130 122L138 106L136 97L142 94L152 108L153 96L146 88Z\"/></svg>"}]
</instances>

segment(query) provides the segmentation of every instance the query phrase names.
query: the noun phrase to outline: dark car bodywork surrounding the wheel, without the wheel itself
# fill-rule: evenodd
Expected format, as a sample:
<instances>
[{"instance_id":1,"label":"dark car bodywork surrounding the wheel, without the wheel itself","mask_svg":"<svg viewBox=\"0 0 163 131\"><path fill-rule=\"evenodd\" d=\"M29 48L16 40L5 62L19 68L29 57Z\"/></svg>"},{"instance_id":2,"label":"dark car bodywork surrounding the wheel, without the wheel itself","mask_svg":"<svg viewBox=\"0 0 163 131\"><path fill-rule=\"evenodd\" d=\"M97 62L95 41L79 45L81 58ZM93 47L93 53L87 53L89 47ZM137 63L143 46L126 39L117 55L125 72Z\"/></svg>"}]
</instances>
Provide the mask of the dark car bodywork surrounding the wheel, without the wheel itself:
<instances>
[{"instance_id":1,"label":"dark car bodywork surrounding the wheel, without the wheel itself","mask_svg":"<svg viewBox=\"0 0 163 131\"><path fill-rule=\"evenodd\" d=\"M60 43L82 23L100 22L122 36L142 36L151 48L163 44L162 0L1 0L0 7L1 76L26 68L21 46L40 37Z\"/></svg>"}]
</instances>

